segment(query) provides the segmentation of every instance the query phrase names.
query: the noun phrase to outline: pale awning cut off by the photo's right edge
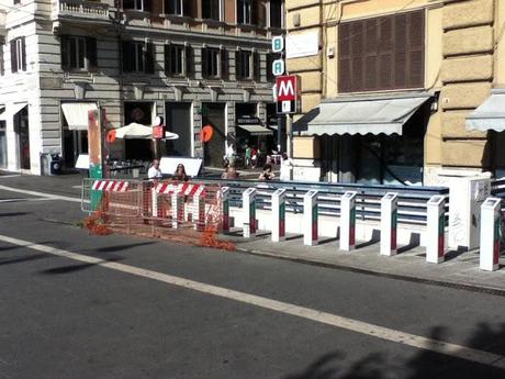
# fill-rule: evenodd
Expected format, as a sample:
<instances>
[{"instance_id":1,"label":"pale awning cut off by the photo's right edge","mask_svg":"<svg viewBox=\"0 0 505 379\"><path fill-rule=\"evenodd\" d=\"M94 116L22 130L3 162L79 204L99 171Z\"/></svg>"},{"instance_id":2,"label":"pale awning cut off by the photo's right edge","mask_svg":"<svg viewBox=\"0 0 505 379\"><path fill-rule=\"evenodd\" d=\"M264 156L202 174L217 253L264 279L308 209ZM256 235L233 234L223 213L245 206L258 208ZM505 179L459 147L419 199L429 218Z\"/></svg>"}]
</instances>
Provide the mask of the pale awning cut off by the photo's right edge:
<instances>
[{"instance_id":1,"label":"pale awning cut off by the photo's right edge","mask_svg":"<svg viewBox=\"0 0 505 379\"><path fill-rule=\"evenodd\" d=\"M495 89L478 109L467 116L470 131L505 131L505 89Z\"/></svg>"}]
</instances>

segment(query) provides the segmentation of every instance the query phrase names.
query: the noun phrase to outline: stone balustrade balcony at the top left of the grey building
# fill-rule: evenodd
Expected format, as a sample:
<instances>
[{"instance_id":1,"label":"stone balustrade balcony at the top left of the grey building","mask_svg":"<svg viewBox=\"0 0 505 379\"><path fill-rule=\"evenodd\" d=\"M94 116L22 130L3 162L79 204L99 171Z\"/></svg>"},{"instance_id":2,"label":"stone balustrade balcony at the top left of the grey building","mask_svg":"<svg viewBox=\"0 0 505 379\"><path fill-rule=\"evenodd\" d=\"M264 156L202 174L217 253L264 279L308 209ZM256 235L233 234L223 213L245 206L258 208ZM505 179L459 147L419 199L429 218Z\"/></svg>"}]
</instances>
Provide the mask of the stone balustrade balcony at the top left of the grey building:
<instances>
[{"instance_id":1,"label":"stone balustrade balcony at the top left of the grey building","mask_svg":"<svg viewBox=\"0 0 505 379\"><path fill-rule=\"evenodd\" d=\"M53 21L109 22L109 5L98 1L53 0Z\"/></svg>"}]
</instances>

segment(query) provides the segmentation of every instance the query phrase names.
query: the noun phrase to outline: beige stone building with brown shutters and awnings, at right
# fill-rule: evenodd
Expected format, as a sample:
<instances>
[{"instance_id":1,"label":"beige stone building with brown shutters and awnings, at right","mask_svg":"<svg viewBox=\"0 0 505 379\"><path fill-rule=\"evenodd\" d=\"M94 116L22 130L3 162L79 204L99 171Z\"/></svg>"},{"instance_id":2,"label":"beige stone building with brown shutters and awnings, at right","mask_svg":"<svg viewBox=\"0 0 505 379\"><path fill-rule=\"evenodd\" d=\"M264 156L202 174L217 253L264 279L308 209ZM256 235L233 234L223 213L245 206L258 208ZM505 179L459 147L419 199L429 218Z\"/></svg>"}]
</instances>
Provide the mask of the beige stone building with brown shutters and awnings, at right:
<instances>
[{"instance_id":1,"label":"beige stone building with brown shutters and awnings, at right","mask_svg":"<svg viewBox=\"0 0 505 379\"><path fill-rule=\"evenodd\" d=\"M291 49L310 34L319 45L287 52L302 82L295 176L305 166L329 181L434 185L448 172L505 172L505 1L285 8Z\"/></svg>"}]
</instances>

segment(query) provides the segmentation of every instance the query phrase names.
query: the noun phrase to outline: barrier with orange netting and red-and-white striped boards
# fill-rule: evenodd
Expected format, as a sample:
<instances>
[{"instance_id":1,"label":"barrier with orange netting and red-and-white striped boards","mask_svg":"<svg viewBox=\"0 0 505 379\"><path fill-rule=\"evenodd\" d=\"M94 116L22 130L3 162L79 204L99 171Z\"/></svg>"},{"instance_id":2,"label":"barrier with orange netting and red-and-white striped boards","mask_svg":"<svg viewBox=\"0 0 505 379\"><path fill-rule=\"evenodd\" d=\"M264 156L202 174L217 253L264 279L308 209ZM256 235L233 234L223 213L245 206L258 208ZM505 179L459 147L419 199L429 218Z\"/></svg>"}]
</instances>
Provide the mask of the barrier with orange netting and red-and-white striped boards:
<instances>
[{"instance_id":1,"label":"barrier with orange netting and red-and-white striped boards","mask_svg":"<svg viewBox=\"0 0 505 379\"><path fill-rule=\"evenodd\" d=\"M81 204L113 232L229 249L215 237L225 226L223 198L218 185L83 179Z\"/></svg>"}]
</instances>

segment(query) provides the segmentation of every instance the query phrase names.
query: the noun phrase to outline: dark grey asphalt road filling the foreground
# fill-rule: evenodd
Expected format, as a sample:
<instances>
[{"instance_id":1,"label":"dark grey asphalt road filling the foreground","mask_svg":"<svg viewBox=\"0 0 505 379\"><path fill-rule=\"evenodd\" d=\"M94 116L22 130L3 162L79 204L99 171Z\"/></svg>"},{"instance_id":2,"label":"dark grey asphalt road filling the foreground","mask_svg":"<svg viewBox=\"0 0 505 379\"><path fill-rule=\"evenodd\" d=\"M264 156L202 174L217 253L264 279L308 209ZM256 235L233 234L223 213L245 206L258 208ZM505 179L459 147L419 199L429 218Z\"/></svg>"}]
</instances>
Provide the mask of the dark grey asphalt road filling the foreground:
<instances>
[{"instance_id":1,"label":"dark grey asphalt road filling the foreground","mask_svg":"<svg viewBox=\"0 0 505 379\"><path fill-rule=\"evenodd\" d=\"M0 177L0 378L505 378L496 367L503 361L478 363L458 349L439 354L435 343L417 348L355 327L378 325L393 336L409 333L501 357L503 297L92 236L77 226L79 203L1 189L79 193L78 178L47 180ZM58 256L47 246L78 255ZM168 276L200 287L170 283ZM272 300L291 308L265 305ZM302 308L312 313L289 314ZM336 327L310 316L317 312L357 324Z\"/></svg>"}]
</instances>

